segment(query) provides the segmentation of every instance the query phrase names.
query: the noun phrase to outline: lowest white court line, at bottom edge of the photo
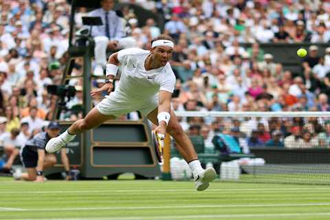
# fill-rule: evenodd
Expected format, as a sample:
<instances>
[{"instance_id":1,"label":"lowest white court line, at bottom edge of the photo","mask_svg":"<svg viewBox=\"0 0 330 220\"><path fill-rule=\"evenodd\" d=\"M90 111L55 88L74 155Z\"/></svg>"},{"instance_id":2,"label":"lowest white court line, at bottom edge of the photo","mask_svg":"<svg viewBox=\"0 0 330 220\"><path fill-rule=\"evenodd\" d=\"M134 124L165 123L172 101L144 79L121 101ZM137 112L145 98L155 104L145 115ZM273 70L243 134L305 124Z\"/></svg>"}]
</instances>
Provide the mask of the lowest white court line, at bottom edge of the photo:
<instances>
[{"instance_id":1,"label":"lowest white court line, at bottom edge of the photo","mask_svg":"<svg viewBox=\"0 0 330 220\"><path fill-rule=\"evenodd\" d=\"M38 220L144 220L144 219L242 219L242 218L271 218L271 217L306 217L327 216L330 212L305 213L270 213L270 214L194 214L194 215L168 215L168 216L137 216L137 217L77 217L77 218L48 218ZM10 220L36 220L36 219L10 219Z\"/></svg>"}]
</instances>

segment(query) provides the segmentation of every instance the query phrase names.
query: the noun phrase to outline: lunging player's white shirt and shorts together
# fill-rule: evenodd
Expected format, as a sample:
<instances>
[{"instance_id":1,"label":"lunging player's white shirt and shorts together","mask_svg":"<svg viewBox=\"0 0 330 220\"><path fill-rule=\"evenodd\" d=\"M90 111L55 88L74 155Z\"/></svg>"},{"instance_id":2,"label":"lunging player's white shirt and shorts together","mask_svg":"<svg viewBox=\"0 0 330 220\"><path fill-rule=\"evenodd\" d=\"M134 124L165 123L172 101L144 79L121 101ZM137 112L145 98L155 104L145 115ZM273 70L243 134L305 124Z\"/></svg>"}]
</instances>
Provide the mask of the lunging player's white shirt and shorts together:
<instances>
[{"instance_id":1,"label":"lunging player's white shirt and shorts together","mask_svg":"<svg viewBox=\"0 0 330 220\"><path fill-rule=\"evenodd\" d=\"M159 90L173 93L175 75L170 64L147 71L144 62L149 54L148 50L140 48L118 52L118 61L122 65L120 82L115 91L98 104L100 113L119 116L139 110L148 115L158 106Z\"/></svg>"}]
</instances>

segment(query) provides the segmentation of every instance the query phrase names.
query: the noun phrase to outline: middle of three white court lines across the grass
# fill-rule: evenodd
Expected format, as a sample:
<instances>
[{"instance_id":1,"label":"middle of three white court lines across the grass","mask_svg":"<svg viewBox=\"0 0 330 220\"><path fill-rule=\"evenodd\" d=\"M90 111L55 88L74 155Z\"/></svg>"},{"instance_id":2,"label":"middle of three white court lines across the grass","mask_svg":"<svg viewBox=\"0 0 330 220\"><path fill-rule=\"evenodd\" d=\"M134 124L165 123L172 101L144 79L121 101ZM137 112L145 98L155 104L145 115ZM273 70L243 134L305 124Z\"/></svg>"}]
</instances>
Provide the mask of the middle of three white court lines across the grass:
<instances>
[{"instance_id":1,"label":"middle of three white court lines across the grass","mask_svg":"<svg viewBox=\"0 0 330 220\"><path fill-rule=\"evenodd\" d=\"M77 211L77 210L144 210L144 209L181 209L181 208L253 208L253 207L301 207L301 206L330 206L330 203L296 203L296 204L239 204L239 205L192 205L192 206L109 206L109 207L80 207L80 208L29 208L21 209L22 212L35 211ZM0 210L11 212L17 210Z\"/></svg>"}]
</instances>

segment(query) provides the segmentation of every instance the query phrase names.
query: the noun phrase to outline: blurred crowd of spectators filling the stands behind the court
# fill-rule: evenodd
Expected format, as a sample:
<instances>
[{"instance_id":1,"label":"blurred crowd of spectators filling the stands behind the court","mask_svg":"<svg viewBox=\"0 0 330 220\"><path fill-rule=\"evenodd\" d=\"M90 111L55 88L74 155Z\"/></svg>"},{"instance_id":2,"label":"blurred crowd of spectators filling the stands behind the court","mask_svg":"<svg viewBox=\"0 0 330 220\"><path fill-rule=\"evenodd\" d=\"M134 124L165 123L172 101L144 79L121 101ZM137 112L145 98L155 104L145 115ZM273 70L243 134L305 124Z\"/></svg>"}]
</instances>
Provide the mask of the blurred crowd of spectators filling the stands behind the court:
<instances>
[{"instance_id":1,"label":"blurred crowd of spectators filling the stands behind the court","mask_svg":"<svg viewBox=\"0 0 330 220\"><path fill-rule=\"evenodd\" d=\"M266 54L260 45L329 43L329 2L120 2L140 5L160 14L165 21L164 30L154 19L139 26L134 10L122 8L120 30L126 32L125 27L130 27L135 46L148 50L150 40L162 32L175 39L171 65L177 76L176 89L180 91L179 97L173 98L176 110L329 111L330 47L324 52L311 45L301 72L292 73L275 63L274 56ZM0 0L0 11L0 142L5 144L8 140L5 152L11 155L12 145L23 145L52 120L58 98L48 94L46 87L61 84L68 61L70 5L65 0ZM81 17L88 13L87 8L78 9L74 18L77 29L83 28ZM242 47L241 43L251 45ZM82 60L76 58L73 74L81 74L82 65ZM74 107L83 102L83 81L70 83L77 90L69 103L69 107ZM96 87L100 85L95 83ZM81 113L70 113L63 119L81 117ZM187 132L195 130L205 137L223 126L221 119L181 120ZM245 121L237 123L246 125ZM326 122L317 128L316 123L307 122L312 124L307 128L298 122L292 126L282 122L276 129L270 126L276 123L279 122L256 120L248 133L241 133L241 125L230 126L225 132L239 133L242 138L245 135L248 146L275 143L290 148L297 146L296 142L304 142L303 146L321 146L320 142L325 142L324 146L329 146L330 129ZM308 129L315 132L306 132ZM318 144L314 144L314 139Z\"/></svg>"}]
</instances>

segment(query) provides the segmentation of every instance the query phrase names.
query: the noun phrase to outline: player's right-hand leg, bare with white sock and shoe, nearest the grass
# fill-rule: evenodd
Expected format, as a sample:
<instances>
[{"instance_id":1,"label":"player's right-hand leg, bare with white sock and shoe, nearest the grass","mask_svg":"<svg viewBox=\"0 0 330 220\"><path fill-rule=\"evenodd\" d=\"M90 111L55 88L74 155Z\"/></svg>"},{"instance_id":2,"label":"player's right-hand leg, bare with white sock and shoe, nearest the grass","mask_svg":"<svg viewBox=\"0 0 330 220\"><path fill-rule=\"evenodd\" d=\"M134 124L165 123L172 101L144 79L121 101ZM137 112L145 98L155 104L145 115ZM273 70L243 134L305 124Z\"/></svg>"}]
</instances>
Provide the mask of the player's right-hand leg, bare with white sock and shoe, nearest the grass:
<instances>
[{"instance_id":1,"label":"player's right-hand leg, bare with white sock and shoe, nearest the grass","mask_svg":"<svg viewBox=\"0 0 330 220\"><path fill-rule=\"evenodd\" d=\"M154 124L158 124L157 109L148 114L148 119ZM190 138L186 135L179 124L172 109L170 111L170 122L168 122L167 131L175 139L175 142L177 142L177 150L192 169L195 179L195 188L199 191L206 190L210 181L213 181L217 177L217 173L214 168L207 168L206 170L201 168L195 148L192 145Z\"/></svg>"}]
</instances>

